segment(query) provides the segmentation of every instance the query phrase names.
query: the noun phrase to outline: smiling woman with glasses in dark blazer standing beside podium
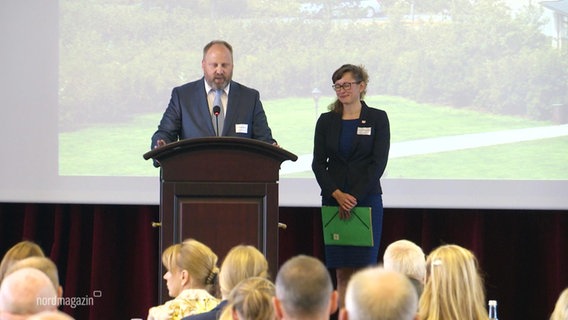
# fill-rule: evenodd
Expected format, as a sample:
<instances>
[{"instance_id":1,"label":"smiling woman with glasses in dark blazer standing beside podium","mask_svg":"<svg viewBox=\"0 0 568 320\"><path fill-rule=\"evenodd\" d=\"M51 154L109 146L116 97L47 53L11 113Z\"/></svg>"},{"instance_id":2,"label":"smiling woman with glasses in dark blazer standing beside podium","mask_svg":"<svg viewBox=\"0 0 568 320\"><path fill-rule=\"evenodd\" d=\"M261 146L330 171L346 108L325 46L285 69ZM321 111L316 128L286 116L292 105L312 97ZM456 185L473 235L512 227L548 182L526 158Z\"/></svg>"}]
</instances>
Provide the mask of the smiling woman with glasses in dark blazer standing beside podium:
<instances>
[{"instance_id":1,"label":"smiling woman with glasses in dark blazer standing beside podium","mask_svg":"<svg viewBox=\"0 0 568 320\"><path fill-rule=\"evenodd\" d=\"M340 306L351 275L378 259L383 203L380 178L387 165L390 127L383 110L363 100L369 76L362 66L345 64L332 75L337 99L319 117L312 170L322 205L338 206L341 219L356 207L371 207L373 247L326 245L325 262L335 269Z\"/></svg>"}]
</instances>

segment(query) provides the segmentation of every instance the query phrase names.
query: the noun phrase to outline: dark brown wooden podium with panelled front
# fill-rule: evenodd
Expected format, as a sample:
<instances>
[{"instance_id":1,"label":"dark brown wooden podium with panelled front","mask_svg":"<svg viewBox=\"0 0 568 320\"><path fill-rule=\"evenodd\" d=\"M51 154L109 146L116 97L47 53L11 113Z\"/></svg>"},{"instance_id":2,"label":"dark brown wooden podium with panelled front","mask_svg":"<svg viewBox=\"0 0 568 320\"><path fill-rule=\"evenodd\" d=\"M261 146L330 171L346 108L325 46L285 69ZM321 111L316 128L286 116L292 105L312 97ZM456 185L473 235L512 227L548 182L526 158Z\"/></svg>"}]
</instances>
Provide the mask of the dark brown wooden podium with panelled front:
<instances>
[{"instance_id":1,"label":"dark brown wooden podium with panelled front","mask_svg":"<svg viewBox=\"0 0 568 320\"><path fill-rule=\"evenodd\" d=\"M278 264L278 178L282 162L298 157L246 138L206 137L170 143L144 154L160 162L160 303L163 250L193 238L211 247L219 266L235 245L263 252Z\"/></svg>"}]
</instances>

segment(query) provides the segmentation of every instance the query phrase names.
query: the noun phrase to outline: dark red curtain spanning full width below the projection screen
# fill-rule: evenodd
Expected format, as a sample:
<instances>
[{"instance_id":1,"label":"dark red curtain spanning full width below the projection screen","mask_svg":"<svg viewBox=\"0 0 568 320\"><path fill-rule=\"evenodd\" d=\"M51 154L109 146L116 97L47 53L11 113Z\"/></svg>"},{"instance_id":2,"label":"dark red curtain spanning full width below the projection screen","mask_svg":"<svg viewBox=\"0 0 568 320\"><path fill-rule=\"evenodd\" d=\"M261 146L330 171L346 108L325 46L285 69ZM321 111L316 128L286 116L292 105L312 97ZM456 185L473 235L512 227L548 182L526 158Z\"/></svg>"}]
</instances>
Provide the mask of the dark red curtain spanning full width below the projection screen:
<instances>
[{"instance_id":1,"label":"dark red curtain spanning full width below the projection screen","mask_svg":"<svg viewBox=\"0 0 568 320\"><path fill-rule=\"evenodd\" d=\"M0 253L23 239L39 243L59 268L64 296L90 304L63 306L76 319L145 318L163 281L159 230L151 225L158 210L0 204ZM323 258L318 208L280 208L279 220L287 225L280 231L280 263L300 253ZM398 239L426 253L446 243L472 250L501 319L547 319L568 287L568 211L387 208L380 255Z\"/></svg>"}]
</instances>

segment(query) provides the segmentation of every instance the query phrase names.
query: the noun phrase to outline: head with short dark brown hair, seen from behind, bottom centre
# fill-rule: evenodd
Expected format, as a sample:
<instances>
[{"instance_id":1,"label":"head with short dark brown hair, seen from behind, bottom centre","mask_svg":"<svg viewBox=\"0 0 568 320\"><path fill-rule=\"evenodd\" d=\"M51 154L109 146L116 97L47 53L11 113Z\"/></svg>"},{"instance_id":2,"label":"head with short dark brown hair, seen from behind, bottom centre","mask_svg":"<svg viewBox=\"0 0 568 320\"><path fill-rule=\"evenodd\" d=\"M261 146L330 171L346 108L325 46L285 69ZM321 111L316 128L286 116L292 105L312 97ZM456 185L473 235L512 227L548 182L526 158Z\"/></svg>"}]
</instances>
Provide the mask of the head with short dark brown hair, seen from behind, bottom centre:
<instances>
[{"instance_id":1,"label":"head with short dark brown hair, seen from behind, bottom centre","mask_svg":"<svg viewBox=\"0 0 568 320\"><path fill-rule=\"evenodd\" d=\"M329 319L337 292L325 265L305 255L286 261L276 276L274 306L280 319Z\"/></svg>"}]
</instances>

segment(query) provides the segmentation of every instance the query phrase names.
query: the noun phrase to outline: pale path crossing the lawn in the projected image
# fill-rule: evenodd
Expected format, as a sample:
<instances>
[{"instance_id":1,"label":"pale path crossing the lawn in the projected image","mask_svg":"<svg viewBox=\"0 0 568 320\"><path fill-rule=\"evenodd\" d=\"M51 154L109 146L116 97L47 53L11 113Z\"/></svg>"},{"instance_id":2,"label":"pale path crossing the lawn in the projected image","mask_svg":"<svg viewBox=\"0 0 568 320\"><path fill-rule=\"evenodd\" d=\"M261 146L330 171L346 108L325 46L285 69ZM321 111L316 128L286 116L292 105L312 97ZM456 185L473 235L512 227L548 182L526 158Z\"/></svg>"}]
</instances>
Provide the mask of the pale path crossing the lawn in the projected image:
<instances>
[{"instance_id":1,"label":"pale path crossing the lawn in the projected image","mask_svg":"<svg viewBox=\"0 0 568 320\"><path fill-rule=\"evenodd\" d=\"M418 139L391 144L389 159L411 157L438 152L474 149L508 143L542 140L568 136L568 124L496 132L472 133L458 136ZM296 162L282 163L280 174L311 171L312 155L298 156Z\"/></svg>"}]
</instances>

